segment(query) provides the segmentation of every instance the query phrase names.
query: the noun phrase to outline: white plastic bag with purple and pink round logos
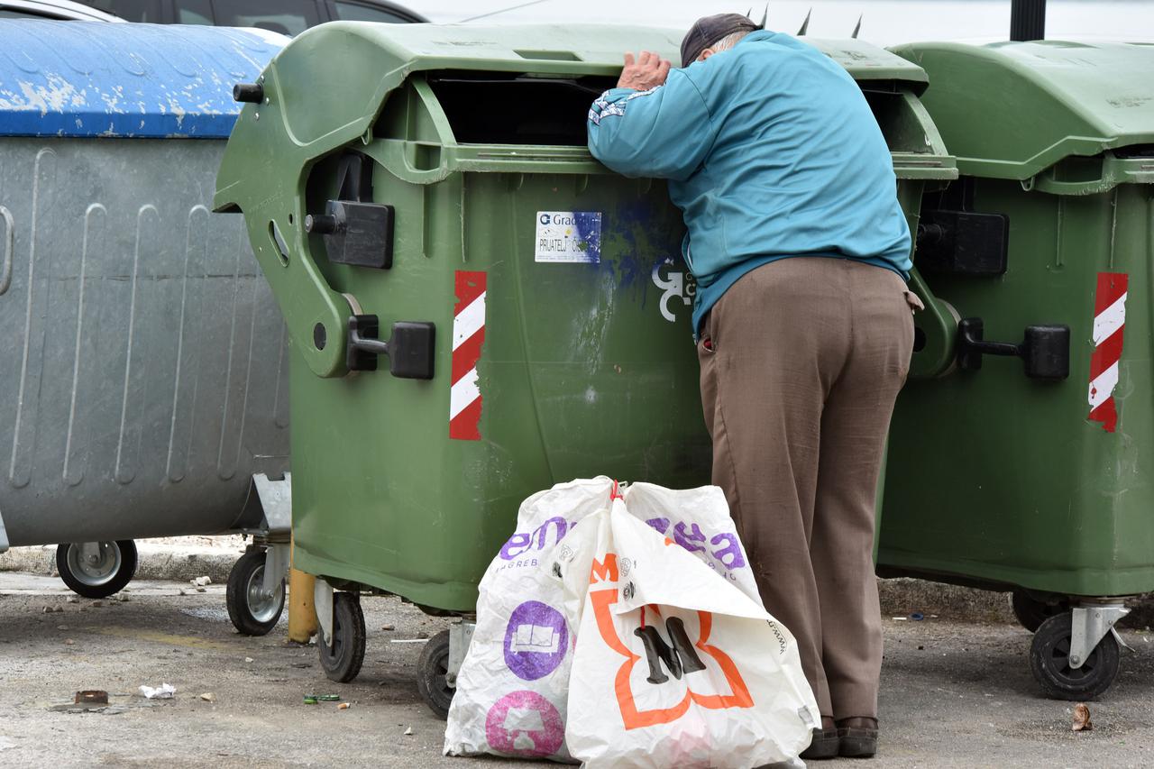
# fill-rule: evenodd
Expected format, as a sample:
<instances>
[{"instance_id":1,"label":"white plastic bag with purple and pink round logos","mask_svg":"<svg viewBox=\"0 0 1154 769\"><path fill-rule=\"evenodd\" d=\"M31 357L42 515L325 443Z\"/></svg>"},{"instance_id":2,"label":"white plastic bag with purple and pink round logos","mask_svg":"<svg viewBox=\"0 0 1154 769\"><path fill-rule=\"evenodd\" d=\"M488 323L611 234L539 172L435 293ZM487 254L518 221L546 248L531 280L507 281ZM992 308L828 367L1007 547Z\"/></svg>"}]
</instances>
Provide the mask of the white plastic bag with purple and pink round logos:
<instances>
[{"instance_id":1,"label":"white plastic bag with purple and pink round logos","mask_svg":"<svg viewBox=\"0 0 1154 769\"><path fill-rule=\"evenodd\" d=\"M444 734L448 755L571 761L564 747L574 634L562 584L547 566L583 518L609 505L600 477L537 493L479 585L477 628L457 675Z\"/></svg>"}]
</instances>

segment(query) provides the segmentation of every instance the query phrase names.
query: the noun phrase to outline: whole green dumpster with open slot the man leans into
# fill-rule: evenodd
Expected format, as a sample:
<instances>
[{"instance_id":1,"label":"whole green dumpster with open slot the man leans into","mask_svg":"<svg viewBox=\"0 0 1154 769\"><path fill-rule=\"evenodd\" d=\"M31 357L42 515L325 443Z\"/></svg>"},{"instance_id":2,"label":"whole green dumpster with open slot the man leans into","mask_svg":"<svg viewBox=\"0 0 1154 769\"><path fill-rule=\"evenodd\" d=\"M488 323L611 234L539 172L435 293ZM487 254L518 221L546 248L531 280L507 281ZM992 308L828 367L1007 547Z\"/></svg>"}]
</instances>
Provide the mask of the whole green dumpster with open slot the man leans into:
<instances>
[{"instance_id":1,"label":"whole green dumpster with open slot the man leans into","mask_svg":"<svg viewBox=\"0 0 1154 769\"><path fill-rule=\"evenodd\" d=\"M360 591L469 613L496 554L531 567L565 525L510 538L529 494L709 483L680 212L585 135L622 52L681 35L332 23L238 85L215 204L243 211L287 322L294 565L342 591L317 596L331 678L359 670ZM957 176L924 73L815 44L861 81L916 224L927 180ZM433 704L448 644L422 657Z\"/></svg>"}]
</instances>

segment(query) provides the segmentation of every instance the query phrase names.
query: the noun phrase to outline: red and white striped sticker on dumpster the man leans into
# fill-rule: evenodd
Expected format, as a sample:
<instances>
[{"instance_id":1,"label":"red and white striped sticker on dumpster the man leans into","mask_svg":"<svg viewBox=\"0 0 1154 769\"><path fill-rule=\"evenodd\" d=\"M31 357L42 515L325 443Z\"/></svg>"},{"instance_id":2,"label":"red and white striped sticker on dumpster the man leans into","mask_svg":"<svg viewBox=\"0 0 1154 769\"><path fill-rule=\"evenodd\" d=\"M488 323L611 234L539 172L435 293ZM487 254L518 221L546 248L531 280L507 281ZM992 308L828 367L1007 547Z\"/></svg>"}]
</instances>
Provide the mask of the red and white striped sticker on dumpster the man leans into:
<instances>
[{"instance_id":1,"label":"red and white striped sticker on dumpster the man leans into","mask_svg":"<svg viewBox=\"0 0 1154 769\"><path fill-rule=\"evenodd\" d=\"M457 270L449 438L460 441L481 440L481 389L477 383L477 361L485 344L485 272Z\"/></svg>"}]
</instances>

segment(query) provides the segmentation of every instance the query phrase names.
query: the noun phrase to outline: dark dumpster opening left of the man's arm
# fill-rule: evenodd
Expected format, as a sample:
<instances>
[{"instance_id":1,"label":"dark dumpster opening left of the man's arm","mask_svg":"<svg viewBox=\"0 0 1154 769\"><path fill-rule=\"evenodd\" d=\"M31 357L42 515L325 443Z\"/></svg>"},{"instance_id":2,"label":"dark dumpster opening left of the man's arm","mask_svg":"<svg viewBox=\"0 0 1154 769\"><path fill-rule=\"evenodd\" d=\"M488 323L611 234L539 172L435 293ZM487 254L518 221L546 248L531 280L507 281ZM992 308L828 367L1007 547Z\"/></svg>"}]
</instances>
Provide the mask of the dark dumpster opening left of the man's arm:
<instances>
[{"instance_id":1,"label":"dark dumpster opening left of the man's arm","mask_svg":"<svg viewBox=\"0 0 1154 769\"><path fill-rule=\"evenodd\" d=\"M430 73L428 83L462 144L584 147L589 105L616 80L450 70Z\"/></svg>"}]
</instances>

